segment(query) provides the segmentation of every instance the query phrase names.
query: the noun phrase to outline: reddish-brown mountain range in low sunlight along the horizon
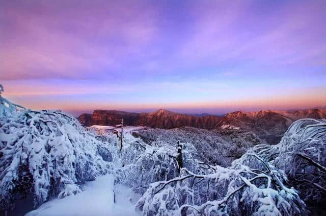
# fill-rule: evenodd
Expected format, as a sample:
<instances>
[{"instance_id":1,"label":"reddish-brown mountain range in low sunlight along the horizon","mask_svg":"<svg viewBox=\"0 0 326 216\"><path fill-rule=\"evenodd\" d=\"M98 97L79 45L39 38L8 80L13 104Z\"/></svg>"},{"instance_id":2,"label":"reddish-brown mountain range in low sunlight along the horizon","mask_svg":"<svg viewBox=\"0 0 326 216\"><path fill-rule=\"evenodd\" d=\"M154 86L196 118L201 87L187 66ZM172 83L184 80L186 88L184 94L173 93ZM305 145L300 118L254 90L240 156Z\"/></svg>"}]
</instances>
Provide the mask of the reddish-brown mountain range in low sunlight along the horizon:
<instances>
[{"instance_id":1,"label":"reddish-brown mountain range in low sunlight along the horizon","mask_svg":"<svg viewBox=\"0 0 326 216\"><path fill-rule=\"evenodd\" d=\"M84 113L79 122L92 125L113 126L124 123L128 126L147 126L150 128L171 129L194 127L202 129L243 129L256 133L267 143L276 144L287 128L297 119L326 118L326 110L314 108L307 110L262 110L257 112L231 112L223 117L217 115L189 115L159 109L155 112L124 112L117 110L94 110L93 114Z\"/></svg>"}]
</instances>

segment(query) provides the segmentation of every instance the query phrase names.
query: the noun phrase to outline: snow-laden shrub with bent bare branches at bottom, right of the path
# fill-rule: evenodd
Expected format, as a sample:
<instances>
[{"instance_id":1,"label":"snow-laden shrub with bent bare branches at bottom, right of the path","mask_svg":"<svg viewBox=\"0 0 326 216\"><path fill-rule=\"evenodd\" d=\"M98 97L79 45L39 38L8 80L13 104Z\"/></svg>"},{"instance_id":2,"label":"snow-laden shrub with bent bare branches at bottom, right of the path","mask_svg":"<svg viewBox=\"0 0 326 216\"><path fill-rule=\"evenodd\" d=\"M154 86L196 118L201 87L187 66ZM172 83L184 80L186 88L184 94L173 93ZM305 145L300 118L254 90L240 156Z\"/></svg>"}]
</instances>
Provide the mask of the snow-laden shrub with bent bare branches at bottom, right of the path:
<instances>
[{"instance_id":1,"label":"snow-laden shrub with bent bare branches at bottom, right of the path","mask_svg":"<svg viewBox=\"0 0 326 216\"><path fill-rule=\"evenodd\" d=\"M284 172L255 154L243 155L228 168L206 164L202 169L206 174L184 168L177 178L152 183L137 203L143 215L300 215L305 212L305 204L295 189L285 186Z\"/></svg>"}]
</instances>

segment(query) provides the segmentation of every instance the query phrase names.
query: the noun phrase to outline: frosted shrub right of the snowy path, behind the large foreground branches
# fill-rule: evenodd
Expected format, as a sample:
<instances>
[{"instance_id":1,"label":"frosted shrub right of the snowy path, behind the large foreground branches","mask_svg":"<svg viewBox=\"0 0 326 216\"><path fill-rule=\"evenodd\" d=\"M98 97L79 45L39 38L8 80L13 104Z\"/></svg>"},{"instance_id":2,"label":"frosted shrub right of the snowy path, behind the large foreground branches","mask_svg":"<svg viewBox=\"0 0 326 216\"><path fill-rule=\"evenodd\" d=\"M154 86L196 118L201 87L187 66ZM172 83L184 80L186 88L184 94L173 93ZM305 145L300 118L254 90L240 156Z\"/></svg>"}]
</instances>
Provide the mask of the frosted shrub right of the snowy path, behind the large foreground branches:
<instances>
[{"instance_id":1,"label":"frosted shrub right of the snowy path, behind the large foreground branches","mask_svg":"<svg viewBox=\"0 0 326 216\"><path fill-rule=\"evenodd\" d=\"M182 144L182 165L194 170L196 160L192 158L194 147ZM149 146L137 139L124 146L121 154L120 169L117 170L119 180L129 185L135 192L144 194L149 185L156 181L170 180L179 176L177 147L171 145Z\"/></svg>"}]
</instances>

